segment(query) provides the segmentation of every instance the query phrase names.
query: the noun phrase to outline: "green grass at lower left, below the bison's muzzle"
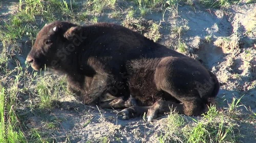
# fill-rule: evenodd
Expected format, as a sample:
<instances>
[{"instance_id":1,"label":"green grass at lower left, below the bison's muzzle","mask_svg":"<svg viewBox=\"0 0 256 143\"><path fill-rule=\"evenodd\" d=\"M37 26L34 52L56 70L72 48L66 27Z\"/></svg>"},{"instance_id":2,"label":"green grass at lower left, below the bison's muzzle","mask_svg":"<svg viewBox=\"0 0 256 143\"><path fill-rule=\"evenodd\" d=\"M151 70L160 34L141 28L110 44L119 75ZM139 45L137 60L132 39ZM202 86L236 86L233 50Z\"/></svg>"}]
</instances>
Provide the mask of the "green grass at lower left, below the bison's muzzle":
<instances>
[{"instance_id":1,"label":"green grass at lower left, below the bison's muzzle","mask_svg":"<svg viewBox=\"0 0 256 143\"><path fill-rule=\"evenodd\" d=\"M28 76L27 68L18 66L14 70L6 70L2 71L5 72L7 75L11 75L13 77L12 80L4 79L4 76L0 76L1 84L0 84L0 114L1 114L1 122L0 127L2 128L0 131L0 142L27 142L32 141L34 142L35 138L39 142L45 142L46 139L41 139L40 132L33 132L31 138L26 138L24 135L24 122L27 120L29 114L37 114L37 111L40 112L41 109L51 109L53 108L52 101L56 99L59 94L62 94L60 91L66 91L66 85L64 83L64 79L61 80L54 80L46 75L38 76L34 74L34 76ZM47 80L50 79L50 80ZM33 84L33 81L37 80L38 84L36 84L35 88L30 87ZM8 106L5 110L4 108L4 95L5 95L5 88L2 85L7 85L8 92L10 92L8 97ZM23 84L23 88L20 88L20 85ZM30 111L27 110L19 110L19 99L17 97L24 96L28 93L35 94L35 91L38 93L39 97L33 95L33 98L37 98L39 100L29 100L30 104L27 104L27 107L30 108ZM38 110L39 109L39 110ZM8 111L9 118L7 122L4 122L4 111ZM20 113L22 115L20 115ZM5 123L8 123L7 130L8 136L5 136ZM53 128L51 124L46 125L47 128ZM32 129L33 130L33 129ZM28 137L28 136L27 136ZM7 139L6 139L7 138Z\"/></svg>"}]
</instances>

